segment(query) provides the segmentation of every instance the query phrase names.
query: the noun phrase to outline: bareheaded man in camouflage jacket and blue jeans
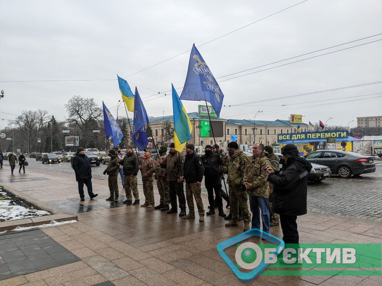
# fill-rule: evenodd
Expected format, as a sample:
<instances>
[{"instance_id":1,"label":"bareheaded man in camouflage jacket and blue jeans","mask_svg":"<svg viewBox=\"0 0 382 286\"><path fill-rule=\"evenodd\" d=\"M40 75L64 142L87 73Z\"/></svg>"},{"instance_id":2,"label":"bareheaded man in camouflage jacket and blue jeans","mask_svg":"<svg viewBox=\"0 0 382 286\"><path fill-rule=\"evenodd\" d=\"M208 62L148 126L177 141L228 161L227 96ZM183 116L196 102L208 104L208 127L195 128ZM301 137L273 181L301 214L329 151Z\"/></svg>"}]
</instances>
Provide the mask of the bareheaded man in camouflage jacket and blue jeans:
<instances>
[{"instance_id":1,"label":"bareheaded man in camouflage jacket and blue jeans","mask_svg":"<svg viewBox=\"0 0 382 286\"><path fill-rule=\"evenodd\" d=\"M270 166L270 161L265 156L264 145L256 143L252 149L253 156L246 167L244 186L249 195L249 207L252 212L252 228L260 229L260 210L263 231L269 233L269 183L268 173L265 170Z\"/></svg>"}]
</instances>

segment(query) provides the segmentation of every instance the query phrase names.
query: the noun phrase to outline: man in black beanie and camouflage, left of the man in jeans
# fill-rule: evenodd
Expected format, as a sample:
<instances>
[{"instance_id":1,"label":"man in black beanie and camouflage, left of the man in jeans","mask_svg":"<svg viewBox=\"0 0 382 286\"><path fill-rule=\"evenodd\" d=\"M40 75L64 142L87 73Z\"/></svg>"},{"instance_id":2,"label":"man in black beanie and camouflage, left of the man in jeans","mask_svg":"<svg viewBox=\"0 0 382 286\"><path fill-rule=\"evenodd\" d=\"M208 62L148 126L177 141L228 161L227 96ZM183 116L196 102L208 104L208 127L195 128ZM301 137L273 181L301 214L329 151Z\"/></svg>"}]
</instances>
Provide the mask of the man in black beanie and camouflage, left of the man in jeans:
<instances>
[{"instance_id":1,"label":"man in black beanie and camouflage, left of the man in jeans","mask_svg":"<svg viewBox=\"0 0 382 286\"><path fill-rule=\"evenodd\" d=\"M228 143L229 156L225 160L224 167L220 166L225 174L228 174L227 182L230 188L230 208L232 212L232 220L226 223L226 227L237 227L239 225L239 206L244 220L244 231L250 229L249 220L251 214L248 210L247 191L243 181L246 165L249 162L248 156L239 150L238 143Z\"/></svg>"}]
</instances>

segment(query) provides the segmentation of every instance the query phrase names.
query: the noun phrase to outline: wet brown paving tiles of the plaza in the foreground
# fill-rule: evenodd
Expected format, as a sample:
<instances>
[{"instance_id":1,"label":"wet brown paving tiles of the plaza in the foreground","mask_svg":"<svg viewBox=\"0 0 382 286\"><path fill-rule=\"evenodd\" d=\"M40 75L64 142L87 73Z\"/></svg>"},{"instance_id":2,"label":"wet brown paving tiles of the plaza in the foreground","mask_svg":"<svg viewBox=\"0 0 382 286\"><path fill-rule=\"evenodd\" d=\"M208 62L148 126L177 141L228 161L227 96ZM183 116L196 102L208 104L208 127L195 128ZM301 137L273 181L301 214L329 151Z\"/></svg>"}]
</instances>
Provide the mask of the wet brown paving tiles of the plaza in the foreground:
<instances>
[{"instance_id":1,"label":"wet brown paving tiles of the plaza in the foreground","mask_svg":"<svg viewBox=\"0 0 382 286\"><path fill-rule=\"evenodd\" d=\"M107 181L97 179L92 180L94 193L99 193L97 200L86 198L80 203L74 176L31 169L26 174L11 176L3 170L0 185L6 188L10 184L31 198L78 216L77 223L42 228L41 231L46 239L52 238L80 261L25 272L0 280L0 286L382 285L382 276L259 276L243 284L216 250L217 243L242 233L243 222L240 227L226 228L227 221L217 214L206 216L205 221L199 223L197 216L195 220L185 220L177 214L167 215L121 202L110 203L105 201ZM142 202L141 186L139 191ZM121 187L120 193L124 193ZM159 202L157 190L154 193L155 201ZM207 196L202 198L207 209ZM123 199L120 196L120 201ZM225 211L228 213L228 209ZM298 230L301 243L382 243L382 223L374 221L309 212L298 218ZM282 237L280 227L272 227L271 233ZM9 239L7 243L11 246L12 238L5 239ZM19 248L24 247L20 239L14 240L19 241ZM1 257L1 245L0 240L0 269L6 264ZM49 251L49 248L42 248Z\"/></svg>"}]
</instances>

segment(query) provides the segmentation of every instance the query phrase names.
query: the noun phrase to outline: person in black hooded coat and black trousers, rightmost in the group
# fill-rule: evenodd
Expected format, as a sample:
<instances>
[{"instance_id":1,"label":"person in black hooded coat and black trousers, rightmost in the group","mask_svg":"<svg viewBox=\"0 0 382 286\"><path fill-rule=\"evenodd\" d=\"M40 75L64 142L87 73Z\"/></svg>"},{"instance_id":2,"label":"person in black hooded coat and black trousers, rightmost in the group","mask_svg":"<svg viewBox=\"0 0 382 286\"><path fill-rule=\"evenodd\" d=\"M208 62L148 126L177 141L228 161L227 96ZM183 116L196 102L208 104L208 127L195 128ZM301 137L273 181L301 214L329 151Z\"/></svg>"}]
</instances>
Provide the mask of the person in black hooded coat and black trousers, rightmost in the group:
<instances>
[{"instance_id":1,"label":"person in black hooded coat and black trousers, rightmost in the group","mask_svg":"<svg viewBox=\"0 0 382 286\"><path fill-rule=\"evenodd\" d=\"M273 187L272 210L280 215L285 243L298 243L297 216L306 214L308 174L312 165L299 156L293 144L281 148L284 165L280 171L267 167L268 181Z\"/></svg>"}]
</instances>

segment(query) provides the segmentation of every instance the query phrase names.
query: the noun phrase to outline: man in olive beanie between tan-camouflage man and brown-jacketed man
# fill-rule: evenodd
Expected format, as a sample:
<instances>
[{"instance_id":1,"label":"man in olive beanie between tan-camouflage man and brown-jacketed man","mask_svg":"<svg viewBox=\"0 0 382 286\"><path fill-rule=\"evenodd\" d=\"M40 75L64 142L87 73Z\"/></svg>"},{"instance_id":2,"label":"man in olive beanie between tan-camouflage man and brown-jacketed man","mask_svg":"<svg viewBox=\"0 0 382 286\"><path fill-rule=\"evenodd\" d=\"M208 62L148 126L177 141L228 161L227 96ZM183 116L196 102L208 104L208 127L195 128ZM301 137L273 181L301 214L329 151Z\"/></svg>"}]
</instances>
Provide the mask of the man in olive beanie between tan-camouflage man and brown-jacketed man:
<instances>
[{"instance_id":1,"label":"man in olive beanie between tan-camouflage man and brown-jacketed man","mask_svg":"<svg viewBox=\"0 0 382 286\"><path fill-rule=\"evenodd\" d=\"M167 147L162 145L158 150L159 158L165 160L167 157ZM167 172L166 169L162 169L157 160L155 163L155 180L157 180L157 187L160 196L159 205L155 206L154 209L160 209L161 211L167 211L170 209L170 196L168 194L168 182L167 182Z\"/></svg>"}]
</instances>

